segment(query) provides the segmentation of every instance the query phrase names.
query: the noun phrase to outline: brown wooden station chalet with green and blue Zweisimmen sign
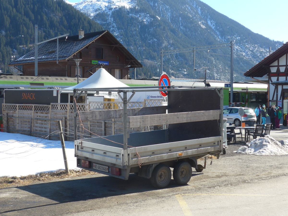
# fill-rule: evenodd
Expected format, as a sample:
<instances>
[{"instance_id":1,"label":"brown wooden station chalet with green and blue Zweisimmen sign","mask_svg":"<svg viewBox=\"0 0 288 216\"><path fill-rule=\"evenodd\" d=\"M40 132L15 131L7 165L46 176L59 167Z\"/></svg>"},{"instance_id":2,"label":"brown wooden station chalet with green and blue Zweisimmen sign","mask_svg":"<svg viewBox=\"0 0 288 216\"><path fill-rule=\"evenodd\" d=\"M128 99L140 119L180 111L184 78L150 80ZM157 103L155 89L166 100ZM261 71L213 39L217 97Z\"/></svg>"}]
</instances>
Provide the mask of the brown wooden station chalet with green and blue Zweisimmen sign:
<instances>
[{"instance_id":1,"label":"brown wooden station chalet with green and blue Zweisimmen sign","mask_svg":"<svg viewBox=\"0 0 288 216\"><path fill-rule=\"evenodd\" d=\"M99 67L116 79L128 79L129 67L143 67L141 63L107 30L61 37L38 45L38 76L90 77ZM58 53L58 61L57 61ZM35 75L35 49L11 62L22 75ZM101 64L101 65L99 65ZM21 67L22 66L22 67Z\"/></svg>"}]
</instances>

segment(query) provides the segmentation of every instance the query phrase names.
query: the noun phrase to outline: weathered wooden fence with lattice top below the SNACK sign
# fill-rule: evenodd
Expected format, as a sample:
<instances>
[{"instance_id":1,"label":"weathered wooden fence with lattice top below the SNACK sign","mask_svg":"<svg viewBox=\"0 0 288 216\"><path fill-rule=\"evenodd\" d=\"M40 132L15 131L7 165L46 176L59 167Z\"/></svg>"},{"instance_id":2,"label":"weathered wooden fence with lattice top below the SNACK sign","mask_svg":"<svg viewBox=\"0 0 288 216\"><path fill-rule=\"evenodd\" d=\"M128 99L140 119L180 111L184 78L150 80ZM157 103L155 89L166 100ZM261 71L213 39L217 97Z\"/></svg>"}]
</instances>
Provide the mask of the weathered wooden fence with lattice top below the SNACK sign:
<instances>
[{"instance_id":1,"label":"weathered wooden fence with lattice top below the SNACK sign","mask_svg":"<svg viewBox=\"0 0 288 216\"><path fill-rule=\"evenodd\" d=\"M160 106L163 100L129 102L128 108ZM122 109L122 102L90 102L77 104L78 111ZM2 104L3 132L20 133L45 139L59 140L58 120L67 141L74 139L74 114L72 103L51 103L50 105ZM78 118L78 137L97 137L123 133L122 119L83 121ZM153 128L148 128L148 130ZM154 128L155 129L155 128ZM129 132L147 130L144 127L130 128Z\"/></svg>"}]
</instances>

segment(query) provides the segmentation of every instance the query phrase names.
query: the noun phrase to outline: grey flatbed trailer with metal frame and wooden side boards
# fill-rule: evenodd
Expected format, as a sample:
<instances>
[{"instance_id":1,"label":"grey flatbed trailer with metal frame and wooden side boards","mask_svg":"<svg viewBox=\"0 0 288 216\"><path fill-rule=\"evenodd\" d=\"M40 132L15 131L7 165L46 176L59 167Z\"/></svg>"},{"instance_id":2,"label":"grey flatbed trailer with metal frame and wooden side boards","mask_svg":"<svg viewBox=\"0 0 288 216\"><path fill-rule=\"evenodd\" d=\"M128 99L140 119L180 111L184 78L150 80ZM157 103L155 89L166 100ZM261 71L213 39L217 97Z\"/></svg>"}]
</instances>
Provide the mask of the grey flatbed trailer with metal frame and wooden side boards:
<instances>
[{"instance_id":1,"label":"grey flatbed trailer with metal frame and wooden side boards","mask_svg":"<svg viewBox=\"0 0 288 216\"><path fill-rule=\"evenodd\" d=\"M161 91L155 86L149 90ZM179 185L190 180L192 167L202 172L206 156L219 157L223 151L223 88L168 86L166 90L168 103L158 107L127 108L127 93L141 91L137 87L95 90L118 92L123 109L78 112L74 102L77 167L124 180L137 173L156 188L168 186L170 168ZM85 91L92 89L74 89L74 97ZM78 116L82 121L120 118L123 134L78 139ZM164 129L129 133L129 128L154 125ZM197 161L203 157L204 166Z\"/></svg>"}]
</instances>

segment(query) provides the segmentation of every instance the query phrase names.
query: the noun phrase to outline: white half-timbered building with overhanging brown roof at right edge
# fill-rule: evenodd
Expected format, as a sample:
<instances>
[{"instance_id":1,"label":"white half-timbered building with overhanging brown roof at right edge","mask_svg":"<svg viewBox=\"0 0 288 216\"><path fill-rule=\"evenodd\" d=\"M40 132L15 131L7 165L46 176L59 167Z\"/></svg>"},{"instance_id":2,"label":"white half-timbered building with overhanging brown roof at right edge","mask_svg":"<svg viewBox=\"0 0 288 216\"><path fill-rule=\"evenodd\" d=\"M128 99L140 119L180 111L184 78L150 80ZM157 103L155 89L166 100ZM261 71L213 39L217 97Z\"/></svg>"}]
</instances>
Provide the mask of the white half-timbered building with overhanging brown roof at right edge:
<instances>
[{"instance_id":1,"label":"white half-timbered building with overhanging brown roof at right edge","mask_svg":"<svg viewBox=\"0 0 288 216\"><path fill-rule=\"evenodd\" d=\"M252 67L244 75L252 78L267 75L269 106L276 105L287 109L288 42Z\"/></svg>"}]
</instances>

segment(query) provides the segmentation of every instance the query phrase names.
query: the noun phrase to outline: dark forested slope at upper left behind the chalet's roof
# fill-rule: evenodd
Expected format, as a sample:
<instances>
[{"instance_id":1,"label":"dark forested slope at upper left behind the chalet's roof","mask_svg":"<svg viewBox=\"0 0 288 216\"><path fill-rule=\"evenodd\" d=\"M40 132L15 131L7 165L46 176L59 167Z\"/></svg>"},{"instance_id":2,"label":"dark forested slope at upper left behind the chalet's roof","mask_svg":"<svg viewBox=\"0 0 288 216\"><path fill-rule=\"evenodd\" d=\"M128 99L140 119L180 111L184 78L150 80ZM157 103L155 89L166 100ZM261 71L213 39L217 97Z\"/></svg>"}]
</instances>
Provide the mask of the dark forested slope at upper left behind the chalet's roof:
<instances>
[{"instance_id":1,"label":"dark forested slope at upper left behind the chalet's roof","mask_svg":"<svg viewBox=\"0 0 288 216\"><path fill-rule=\"evenodd\" d=\"M0 73L12 73L7 65L34 48L35 24L38 42L66 33L77 35L79 29L103 30L63 0L1 0L0 20Z\"/></svg>"}]
</instances>

